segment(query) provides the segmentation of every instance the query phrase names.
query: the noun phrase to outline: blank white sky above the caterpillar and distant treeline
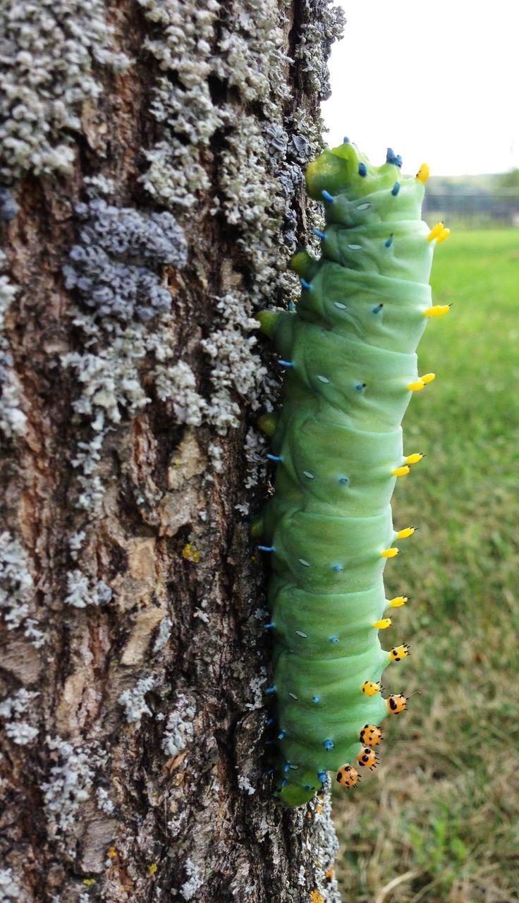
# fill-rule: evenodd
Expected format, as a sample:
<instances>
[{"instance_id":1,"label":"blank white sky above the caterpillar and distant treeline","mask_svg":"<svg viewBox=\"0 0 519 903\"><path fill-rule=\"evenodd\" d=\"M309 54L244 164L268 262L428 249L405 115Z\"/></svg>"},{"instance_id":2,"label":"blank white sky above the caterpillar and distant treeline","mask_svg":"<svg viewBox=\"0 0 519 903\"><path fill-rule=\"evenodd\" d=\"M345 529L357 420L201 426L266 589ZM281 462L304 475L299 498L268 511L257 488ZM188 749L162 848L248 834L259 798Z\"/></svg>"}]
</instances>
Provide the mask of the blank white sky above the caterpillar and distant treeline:
<instances>
[{"instance_id":1,"label":"blank white sky above the caterpillar and distant treeline","mask_svg":"<svg viewBox=\"0 0 519 903\"><path fill-rule=\"evenodd\" d=\"M338 0L336 0L338 2ZM348 135L403 172L519 167L517 0L339 0L347 25L322 105L330 146Z\"/></svg>"}]
</instances>

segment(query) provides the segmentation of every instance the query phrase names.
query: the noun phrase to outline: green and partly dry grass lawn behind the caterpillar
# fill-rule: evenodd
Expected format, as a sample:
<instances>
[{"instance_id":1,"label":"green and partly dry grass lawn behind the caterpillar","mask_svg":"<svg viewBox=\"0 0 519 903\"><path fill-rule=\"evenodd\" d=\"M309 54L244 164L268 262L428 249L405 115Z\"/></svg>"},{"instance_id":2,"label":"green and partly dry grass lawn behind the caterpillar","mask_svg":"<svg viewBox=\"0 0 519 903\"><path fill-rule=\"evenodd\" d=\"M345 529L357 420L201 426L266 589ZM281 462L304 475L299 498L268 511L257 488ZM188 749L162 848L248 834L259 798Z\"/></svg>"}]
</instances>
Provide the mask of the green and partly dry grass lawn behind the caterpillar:
<instances>
[{"instance_id":1,"label":"green and partly dry grass lawn behind the caterpillar","mask_svg":"<svg viewBox=\"0 0 519 903\"><path fill-rule=\"evenodd\" d=\"M381 635L412 656L385 672L412 695L385 721L381 764L338 787L345 903L519 900L519 230L468 231L436 252L434 303L394 524L419 526L385 568L410 601Z\"/></svg>"}]
</instances>

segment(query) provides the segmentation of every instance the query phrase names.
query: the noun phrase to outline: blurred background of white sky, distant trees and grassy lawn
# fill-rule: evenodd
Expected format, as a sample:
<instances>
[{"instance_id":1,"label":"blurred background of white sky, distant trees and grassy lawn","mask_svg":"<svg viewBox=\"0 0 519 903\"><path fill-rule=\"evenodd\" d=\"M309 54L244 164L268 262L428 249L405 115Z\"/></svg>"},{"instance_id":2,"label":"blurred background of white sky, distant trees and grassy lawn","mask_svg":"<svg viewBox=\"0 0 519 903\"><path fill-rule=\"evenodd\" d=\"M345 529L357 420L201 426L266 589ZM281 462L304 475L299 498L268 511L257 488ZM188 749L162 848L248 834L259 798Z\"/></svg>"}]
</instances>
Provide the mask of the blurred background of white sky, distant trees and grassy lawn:
<instances>
[{"instance_id":1,"label":"blurred background of white sky, distant trees and grassy lawn","mask_svg":"<svg viewBox=\"0 0 519 903\"><path fill-rule=\"evenodd\" d=\"M399 480L394 523L419 526L385 569L386 648L412 656L385 672L412 694L385 722L381 764L335 792L338 878L355 903L519 900L519 8L344 0L332 51L329 143L343 135L403 172L431 166L424 219L449 241Z\"/></svg>"}]
</instances>

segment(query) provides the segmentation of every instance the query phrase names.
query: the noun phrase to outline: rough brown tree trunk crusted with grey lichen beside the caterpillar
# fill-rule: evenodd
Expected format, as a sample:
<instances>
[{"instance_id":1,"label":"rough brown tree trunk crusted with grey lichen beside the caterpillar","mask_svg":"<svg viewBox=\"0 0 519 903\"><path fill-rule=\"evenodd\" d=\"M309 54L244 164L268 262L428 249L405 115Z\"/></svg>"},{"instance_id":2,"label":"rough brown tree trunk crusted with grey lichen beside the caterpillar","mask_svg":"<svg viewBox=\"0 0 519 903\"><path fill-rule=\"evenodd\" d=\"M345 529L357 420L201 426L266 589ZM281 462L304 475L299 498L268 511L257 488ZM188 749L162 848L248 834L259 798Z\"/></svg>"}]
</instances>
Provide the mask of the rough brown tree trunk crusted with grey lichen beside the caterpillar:
<instances>
[{"instance_id":1,"label":"rough brown tree trunk crusted with grey lichen beside the caterpillar","mask_svg":"<svg viewBox=\"0 0 519 903\"><path fill-rule=\"evenodd\" d=\"M3 12L0 899L338 899L264 760L246 523L326 0ZM328 874L327 874L328 872Z\"/></svg>"}]
</instances>

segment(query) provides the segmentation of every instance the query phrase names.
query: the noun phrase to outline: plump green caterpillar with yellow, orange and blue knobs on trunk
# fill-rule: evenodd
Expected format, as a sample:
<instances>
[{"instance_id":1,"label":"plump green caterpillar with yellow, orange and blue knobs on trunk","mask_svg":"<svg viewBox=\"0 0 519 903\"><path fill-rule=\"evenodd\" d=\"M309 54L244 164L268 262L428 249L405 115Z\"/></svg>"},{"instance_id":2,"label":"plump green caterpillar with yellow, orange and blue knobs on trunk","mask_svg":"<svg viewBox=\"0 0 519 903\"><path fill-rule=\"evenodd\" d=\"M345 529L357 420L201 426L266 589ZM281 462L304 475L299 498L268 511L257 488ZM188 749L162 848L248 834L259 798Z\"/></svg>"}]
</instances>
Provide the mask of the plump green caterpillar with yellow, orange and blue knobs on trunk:
<instances>
[{"instance_id":1,"label":"plump green caterpillar with yellow, orange and blue knobs on trunk","mask_svg":"<svg viewBox=\"0 0 519 903\"><path fill-rule=\"evenodd\" d=\"M422 458L404 456L401 422L418 376L415 349L431 316L429 275L434 244L449 235L421 221L423 164L404 179L391 149L372 166L355 144L325 151L306 173L323 200L322 256L301 251L293 312L261 312L286 368L283 405L262 418L277 463L275 495L253 535L272 553L269 605L274 638L276 798L308 802L338 772L357 783L357 768L374 768L380 721L402 712L403 694L383 699L380 678L390 661L378 630L385 609L383 572L398 548L390 500L398 477Z\"/></svg>"}]
</instances>

